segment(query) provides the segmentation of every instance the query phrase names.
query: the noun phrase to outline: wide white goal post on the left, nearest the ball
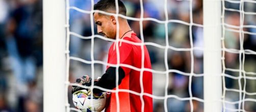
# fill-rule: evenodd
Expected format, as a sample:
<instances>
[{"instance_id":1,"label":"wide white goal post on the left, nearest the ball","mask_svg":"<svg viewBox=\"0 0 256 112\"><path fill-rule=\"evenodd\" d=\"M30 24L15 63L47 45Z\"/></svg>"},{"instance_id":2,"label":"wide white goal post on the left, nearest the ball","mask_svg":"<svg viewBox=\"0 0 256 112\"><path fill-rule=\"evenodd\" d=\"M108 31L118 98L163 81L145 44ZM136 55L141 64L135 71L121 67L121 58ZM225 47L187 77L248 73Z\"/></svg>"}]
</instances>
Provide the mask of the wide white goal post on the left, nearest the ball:
<instances>
[{"instance_id":1,"label":"wide white goal post on the left, nearest the ball","mask_svg":"<svg viewBox=\"0 0 256 112\"><path fill-rule=\"evenodd\" d=\"M65 1L43 1L43 110L65 111Z\"/></svg>"}]
</instances>

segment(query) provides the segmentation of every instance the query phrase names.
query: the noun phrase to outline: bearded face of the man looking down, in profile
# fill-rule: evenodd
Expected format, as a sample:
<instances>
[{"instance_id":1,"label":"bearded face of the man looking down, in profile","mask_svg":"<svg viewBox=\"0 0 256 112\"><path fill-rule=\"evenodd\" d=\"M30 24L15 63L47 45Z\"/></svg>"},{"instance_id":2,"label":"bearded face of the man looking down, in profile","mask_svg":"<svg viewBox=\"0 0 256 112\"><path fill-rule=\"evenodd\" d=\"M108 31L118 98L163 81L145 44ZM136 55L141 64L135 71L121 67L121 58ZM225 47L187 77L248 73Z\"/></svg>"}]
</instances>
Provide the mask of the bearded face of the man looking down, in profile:
<instances>
[{"instance_id":1,"label":"bearded face of the man looking down, in profile","mask_svg":"<svg viewBox=\"0 0 256 112\"><path fill-rule=\"evenodd\" d=\"M98 34L110 39L116 38L116 21L113 16L99 14L96 12L93 17L97 25Z\"/></svg>"}]
</instances>

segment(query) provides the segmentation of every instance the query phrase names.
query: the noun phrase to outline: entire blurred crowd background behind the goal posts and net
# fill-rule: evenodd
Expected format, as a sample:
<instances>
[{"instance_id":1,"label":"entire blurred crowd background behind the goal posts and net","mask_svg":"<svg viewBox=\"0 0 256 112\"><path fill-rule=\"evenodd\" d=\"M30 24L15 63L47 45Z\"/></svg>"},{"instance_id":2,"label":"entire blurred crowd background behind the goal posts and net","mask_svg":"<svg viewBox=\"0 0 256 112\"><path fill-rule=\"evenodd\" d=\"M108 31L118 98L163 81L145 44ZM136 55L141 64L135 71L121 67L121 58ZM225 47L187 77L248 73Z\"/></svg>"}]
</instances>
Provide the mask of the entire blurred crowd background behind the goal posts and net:
<instances>
[{"instance_id":1,"label":"entire blurred crowd background behind the goal posts and net","mask_svg":"<svg viewBox=\"0 0 256 112\"><path fill-rule=\"evenodd\" d=\"M83 10L91 10L91 1L89 0L70 0L70 6L78 7ZM97 0L94 1L96 3ZM127 16L140 18L140 2L138 0L123 0ZM239 3L224 2L227 9L240 9ZM190 1L167 1L168 19L181 20L184 22L193 22L202 24L202 0L192 1L192 10L190 10ZM143 0L143 17L165 20L164 0ZM190 11L192 19L190 20ZM256 12L256 4L244 2L245 12ZM225 23L240 26L241 15L237 11L224 11ZM70 10L70 31L82 36L91 36L90 15ZM132 30L141 38L140 25L138 21L129 20ZM224 42L225 48L238 49L240 45L244 49L256 51L256 35L249 35L246 32L256 33L256 15L245 14L244 25L254 25L253 27L244 27L243 40L240 40L239 28L225 25ZM94 34L96 33L94 24ZM143 21L143 38L145 42L154 42L165 46L166 44L176 48L203 47L203 29L199 26L192 26L192 35L190 40L189 25L177 22L168 23L168 41L165 42L164 24L155 21ZM42 0L0 0L0 111L43 111L43 83L42 83ZM191 42L192 41L192 42ZM94 60L107 62L108 49L112 42L94 38L93 51L91 51L91 40L80 39L72 36L70 38L70 56L78 57L91 61L91 52ZM164 49L156 46L147 46L152 69L166 71L164 63ZM203 51L194 50L193 55L190 51L168 50L167 60L168 68L179 70L185 73L191 72L191 57L194 58L194 73L203 73ZM238 53L225 52L225 67L239 70ZM246 72L256 73L256 55L245 54L244 70ZM101 76L106 66L94 64L94 74ZM239 76L239 72L225 70L225 74L230 76ZM91 75L91 65L70 60L70 82L82 75ZM252 74L244 74L255 77ZM153 95L164 96L165 74L153 74ZM254 79L233 79L225 77L225 88L239 90L239 81L242 87L246 84L246 92L256 93L256 80ZM192 96L203 99L203 77L192 77ZM71 87L69 88L71 89ZM69 102L72 105L71 94ZM168 95L176 95L181 98L189 96L189 76L171 72L169 73ZM256 99L256 95L245 95L245 98ZM226 91L225 100L235 102L239 100L239 92ZM154 111L164 111L164 100L153 99ZM203 103L193 100L194 110L203 111ZM256 102L245 101L246 111L256 111ZM190 111L189 101L181 101L175 98L168 98L168 111ZM238 104L226 104L226 107L235 109ZM228 111L228 110L226 110Z\"/></svg>"}]
</instances>

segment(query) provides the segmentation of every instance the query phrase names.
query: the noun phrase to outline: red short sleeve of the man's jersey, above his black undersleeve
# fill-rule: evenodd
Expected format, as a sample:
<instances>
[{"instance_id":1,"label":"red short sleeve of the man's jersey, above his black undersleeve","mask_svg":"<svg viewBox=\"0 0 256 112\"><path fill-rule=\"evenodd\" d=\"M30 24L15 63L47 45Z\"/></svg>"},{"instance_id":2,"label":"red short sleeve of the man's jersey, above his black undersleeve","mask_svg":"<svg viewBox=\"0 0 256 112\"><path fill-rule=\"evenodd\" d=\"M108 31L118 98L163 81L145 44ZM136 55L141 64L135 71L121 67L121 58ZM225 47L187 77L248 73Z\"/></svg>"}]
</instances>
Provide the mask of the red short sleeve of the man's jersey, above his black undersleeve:
<instances>
[{"instance_id":1,"label":"red short sleeve of the man's jersey, above his black undersleeve","mask_svg":"<svg viewBox=\"0 0 256 112\"><path fill-rule=\"evenodd\" d=\"M109 62L110 64L117 64L117 53L119 53L120 64L132 65L132 44L122 42L118 45L119 52L116 50L115 44L113 44L109 51ZM131 71L130 68L121 66L125 74Z\"/></svg>"}]
</instances>

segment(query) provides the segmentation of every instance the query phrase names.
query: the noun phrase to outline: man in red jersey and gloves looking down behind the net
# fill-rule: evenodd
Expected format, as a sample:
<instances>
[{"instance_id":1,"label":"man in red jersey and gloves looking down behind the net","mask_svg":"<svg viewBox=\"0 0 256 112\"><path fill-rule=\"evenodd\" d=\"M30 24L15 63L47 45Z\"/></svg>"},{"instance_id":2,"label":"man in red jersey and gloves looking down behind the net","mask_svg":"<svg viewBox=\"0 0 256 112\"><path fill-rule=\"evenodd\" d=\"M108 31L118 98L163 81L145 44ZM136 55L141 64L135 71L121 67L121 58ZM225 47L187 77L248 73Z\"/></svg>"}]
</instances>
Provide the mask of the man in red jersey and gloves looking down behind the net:
<instances>
[{"instance_id":1,"label":"man in red jersey and gloves looking down behind the net","mask_svg":"<svg viewBox=\"0 0 256 112\"><path fill-rule=\"evenodd\" d=\"M121 1L118 1L119 14L126 16L126 8ZM108 13L116 13L115 0L100 0L94 5L94 10L105 11ZM97 32L106 38L116 39L119 37L119 42L113 42L109 49L108 63L109 64L121 64L118 68L118 74L116 74L116 67L107 66L106 73L101 76L98 81L95 81L94 85L109 90L116 90L116 75L118 75L118 89L130 90L137 93L152 94L152 73L148 71L137 71L131 69L131 67L124 67L122 65L129 65L139 69L147 68L151 69L151 63L149 54L145 45L141 46L141 40L131 30L127 20L118 17L119 26L117 26L117 20L114 16L106 15L103 13L95 12L93 14L95 23L97 24ZM119 27L118 36L117 27ZM128 41L128 42L127 42ZM131 44L131 43L136 43ZM118 50L117 50L118 47ZM119 55L119 61L118 56ZM143 58L143 59L142 59ZM140 80L140 77L141 80ZM86 86L90 86L91 79L88 76L84 76L76 80L80 83L81 80L86 79ZM142 81L142 84L140 84ZM81 88L80 88L81 89ZM72 93L80 89L74 88ZM103 92L99 89L93 89L93 93ZM107 105L105 111L117 111L117 99L116 93L107 95ZM152 111L152 98L146 95L142 96L128 93L118 92L119 99L119 111ZM144 109L142 109L144 108Z\"/></svg>"}]
</instances>

